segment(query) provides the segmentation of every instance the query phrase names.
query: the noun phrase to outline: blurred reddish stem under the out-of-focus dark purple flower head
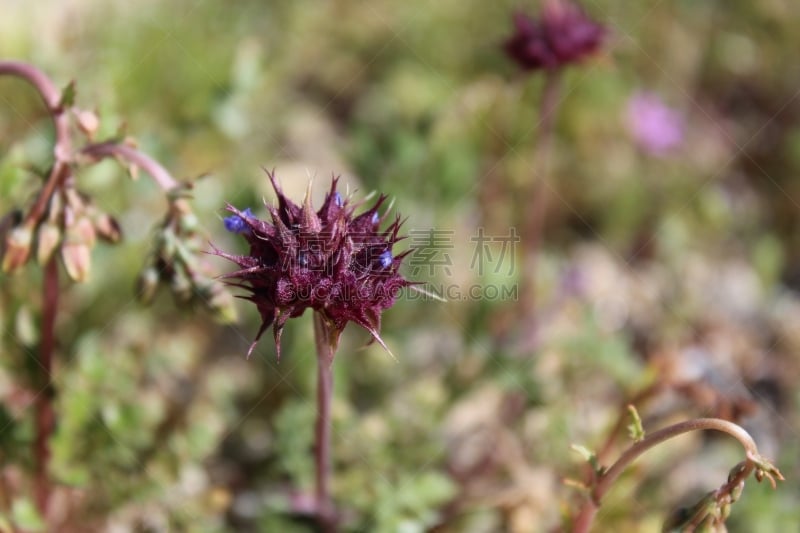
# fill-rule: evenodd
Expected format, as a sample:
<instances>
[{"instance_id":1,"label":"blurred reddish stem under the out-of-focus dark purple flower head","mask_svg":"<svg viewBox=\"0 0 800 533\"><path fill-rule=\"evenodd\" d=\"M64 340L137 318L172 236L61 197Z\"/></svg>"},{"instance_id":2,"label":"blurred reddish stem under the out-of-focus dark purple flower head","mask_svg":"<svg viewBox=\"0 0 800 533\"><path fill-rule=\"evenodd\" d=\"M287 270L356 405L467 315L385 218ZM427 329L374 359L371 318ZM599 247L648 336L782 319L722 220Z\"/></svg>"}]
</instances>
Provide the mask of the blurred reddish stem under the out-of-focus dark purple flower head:
<instances>
[{"instance_id":1,"label":"blurred reddish stem under the out-of-focus dark purple flower head","mask_svg":"<svg viewBox=\"0 0 800 533\"><path fill-rule=\"evenodd\" d=\"M531 204L525 209L524 234L522 236L524 276L520 294L521 315L523 323L529 331L525 344L533 343L536 338L536 263L541 247L545 216L550 197L548 184L549 158L553 138L553 123L558 110L560 92L560 75L558 71L549 70L545 74L545 85L539 107L539 136L536 140L536 176L526 198Z\"/></svg>"}]
</instances>

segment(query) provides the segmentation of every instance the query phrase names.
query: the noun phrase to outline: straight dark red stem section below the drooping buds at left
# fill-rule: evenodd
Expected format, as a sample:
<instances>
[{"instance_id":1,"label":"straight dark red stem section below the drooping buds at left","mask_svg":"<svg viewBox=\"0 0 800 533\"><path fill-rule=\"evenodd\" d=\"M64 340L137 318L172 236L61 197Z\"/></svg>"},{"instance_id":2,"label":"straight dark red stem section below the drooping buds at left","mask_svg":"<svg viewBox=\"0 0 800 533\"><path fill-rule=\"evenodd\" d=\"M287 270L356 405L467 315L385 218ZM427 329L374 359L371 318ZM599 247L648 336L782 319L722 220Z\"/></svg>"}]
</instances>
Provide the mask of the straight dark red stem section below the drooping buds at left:
<instances>
[{"instance_id":1,"label":"straight dark red stem section below the drooping buds at left","mask_svg":"<svg viewBox=\"0 0 800 533\"><path fill-rule=\"evenodd\" d=\"M42 371L42 391L36 398L36 440L34 450L36 457L36 505L39 512L45 515L50 498L50 436L55 427L53 399L53 352L56 337L55 324L58 312L58 264L51 257L44 267L43 283L42 340L39 347L39 367Z\"/></svg>"}]
</instances>

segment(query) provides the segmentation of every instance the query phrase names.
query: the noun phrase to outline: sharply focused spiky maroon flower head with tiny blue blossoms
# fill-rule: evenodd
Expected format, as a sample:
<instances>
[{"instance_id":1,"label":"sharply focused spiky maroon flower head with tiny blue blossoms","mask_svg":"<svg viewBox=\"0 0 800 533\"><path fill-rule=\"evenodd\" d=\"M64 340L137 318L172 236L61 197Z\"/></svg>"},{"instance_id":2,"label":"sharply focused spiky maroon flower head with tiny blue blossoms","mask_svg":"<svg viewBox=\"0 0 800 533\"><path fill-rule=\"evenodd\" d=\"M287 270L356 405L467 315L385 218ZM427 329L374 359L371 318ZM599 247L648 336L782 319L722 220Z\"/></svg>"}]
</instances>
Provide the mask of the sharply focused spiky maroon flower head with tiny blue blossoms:
<instances>
[{"instance_id":1,"label":"sharply focused spiky maroon flower head with tiny blue blossoms","mask_svg":"<svg viewBox=\"0 0 800 533\"><path fill-rule=\"evenodd\" d=\"M250 253L213 250L239 265L239 270L223 278L247 289L249 294L243 298L255 303L261 314L261 327L248 357L270 325L280 357L286 321L306 309L320 313L337 332L355 322L386 348L379 334L381 313L394 305L401 289L415 285L398 272L409 252L392 252L402 239L398 236L400 217L380 229L386 215L379 209L386 196L356 214L362 204L342 197L336 190L338 178L333 178L325 201L314 211L310 184L303 205L297 205L283 194L275 174L267 174L278 197L277 206L266 205L269 220L257 218L250 209L227 206L233 215L225 218L225 227L247 240Z\"/></svg>"}]
</instances>

